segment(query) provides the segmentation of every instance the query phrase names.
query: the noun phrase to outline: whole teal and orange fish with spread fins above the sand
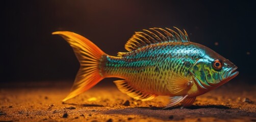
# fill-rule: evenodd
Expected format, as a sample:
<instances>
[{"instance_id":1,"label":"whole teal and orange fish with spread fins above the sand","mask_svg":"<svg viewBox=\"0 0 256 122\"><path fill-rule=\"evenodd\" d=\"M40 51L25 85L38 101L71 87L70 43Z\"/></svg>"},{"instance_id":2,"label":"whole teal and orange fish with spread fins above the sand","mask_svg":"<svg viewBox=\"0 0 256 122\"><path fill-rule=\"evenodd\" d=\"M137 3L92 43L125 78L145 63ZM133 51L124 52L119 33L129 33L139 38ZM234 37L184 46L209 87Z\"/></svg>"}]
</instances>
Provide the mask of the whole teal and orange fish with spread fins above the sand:
<instances>
[{"instance_id":1,"label":"whole teal and orange fish with spread fins above the sand","mask_svg":"<svg viewBox=\"0 0 256 122\"><path fill-rule=\"evenodd\" d=\"M58 31L80 62L71 92L65 102L86 92L108 77L124 94L141 101L169 96L165 108L191 106L196 97L235 78L237 66L212 49L191 42L184 29L143 29L126 42L127 52L106 54L87 38Z\"/></svg>"}]
</instances>

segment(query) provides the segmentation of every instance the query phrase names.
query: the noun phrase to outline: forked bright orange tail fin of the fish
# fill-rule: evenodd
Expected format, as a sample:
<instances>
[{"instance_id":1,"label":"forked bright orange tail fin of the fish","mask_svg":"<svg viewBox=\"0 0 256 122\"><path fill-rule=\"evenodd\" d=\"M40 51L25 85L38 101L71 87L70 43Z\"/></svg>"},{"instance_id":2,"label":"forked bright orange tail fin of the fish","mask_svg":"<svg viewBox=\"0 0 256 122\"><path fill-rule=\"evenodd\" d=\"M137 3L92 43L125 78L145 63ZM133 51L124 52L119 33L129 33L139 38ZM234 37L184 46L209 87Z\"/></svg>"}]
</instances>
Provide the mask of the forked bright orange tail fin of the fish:
<instances>
[{"instance_id":1,"label":"forked bright orange tail fin of the fish","mask_svg":"<svg viewBox=\"0 0 256 122\"><path fill-rule=\"evenodd\" d=\"M106 54L81 35L72 32L53 33L53 35L57 34L70 44L80 62L80 69L78 74L76 74L71 92L62 100L64 102L85 92L104 78L100 75L99 62L100 58Z\"/></svg>"}]
</instances>

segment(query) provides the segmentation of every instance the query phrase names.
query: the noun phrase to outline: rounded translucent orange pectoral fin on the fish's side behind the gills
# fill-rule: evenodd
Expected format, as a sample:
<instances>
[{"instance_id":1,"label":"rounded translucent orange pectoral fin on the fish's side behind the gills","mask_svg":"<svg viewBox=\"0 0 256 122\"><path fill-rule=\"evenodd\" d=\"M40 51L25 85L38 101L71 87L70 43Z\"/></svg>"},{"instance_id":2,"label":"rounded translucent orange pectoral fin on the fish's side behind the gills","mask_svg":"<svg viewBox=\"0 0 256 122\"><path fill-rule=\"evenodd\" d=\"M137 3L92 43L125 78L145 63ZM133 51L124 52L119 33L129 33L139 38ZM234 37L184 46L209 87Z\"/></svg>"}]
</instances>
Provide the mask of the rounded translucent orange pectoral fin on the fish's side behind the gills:
<instances>
[{"instance_id":1,"label":"rounded translucent orange pectoral fin on the fish's side behind the gills","mask_svg":"<svg viewBox=\"0 0 256 122\"><path fill-rule=\"evenodd\" d=\"M167 89L172 94L178 94L178 93L184 93L186 94L187 90L192 86L193 81L188 80L187 78L180 76L180 75L174 75L167 84Z\"/></svg>"}]
</instances>

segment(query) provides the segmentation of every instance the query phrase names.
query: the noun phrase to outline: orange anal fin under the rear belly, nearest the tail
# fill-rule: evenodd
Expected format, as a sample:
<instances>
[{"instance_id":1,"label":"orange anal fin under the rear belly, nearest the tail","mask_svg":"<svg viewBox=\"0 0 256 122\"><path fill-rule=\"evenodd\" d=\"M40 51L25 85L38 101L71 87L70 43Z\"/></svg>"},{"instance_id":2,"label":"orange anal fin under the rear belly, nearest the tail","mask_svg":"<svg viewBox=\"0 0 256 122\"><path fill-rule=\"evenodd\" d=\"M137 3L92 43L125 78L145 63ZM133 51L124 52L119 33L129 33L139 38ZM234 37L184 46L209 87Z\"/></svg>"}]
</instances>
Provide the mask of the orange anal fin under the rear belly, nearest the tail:
<instances>
[{"instance_id":1,"label":"orange anal fin under the rear belly, nearest the tail","mask_svg":"<svg viewBox=\"0 0 256 122\"><path fill-rule=\"evenodd\" d=\"M127 81L125 80L116 80L114 81L117 88L124 94L127 94L128 96L141 101L147 101L151 100L158 95L155 94L148 94L141 90L135 89L133 86L131 86Z\"/></svg>"}]
</instances>

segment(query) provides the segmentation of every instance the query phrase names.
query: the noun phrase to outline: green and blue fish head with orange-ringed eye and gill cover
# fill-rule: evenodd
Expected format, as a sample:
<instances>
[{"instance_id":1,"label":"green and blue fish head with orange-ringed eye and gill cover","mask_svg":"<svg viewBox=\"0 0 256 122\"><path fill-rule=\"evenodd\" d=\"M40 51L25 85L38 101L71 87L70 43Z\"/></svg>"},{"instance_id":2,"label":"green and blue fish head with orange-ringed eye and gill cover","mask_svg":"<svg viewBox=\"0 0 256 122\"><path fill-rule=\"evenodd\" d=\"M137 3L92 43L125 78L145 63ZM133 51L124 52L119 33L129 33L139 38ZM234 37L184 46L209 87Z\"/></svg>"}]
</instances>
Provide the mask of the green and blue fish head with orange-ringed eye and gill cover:
<instances>
[{"instance_id":1,"label":"green and blue fish head with orange-ringed eye and gill cover","mask_svg":"<svg viewBox=\"0 0 256 122\"><path fill-rule=\"evenodd\" d=\"M204 89L216 88L236 77L239 72L231 61L203 46L203 56L197 59L190 73L198 85Z\"/></svg>"}]
</instances>

